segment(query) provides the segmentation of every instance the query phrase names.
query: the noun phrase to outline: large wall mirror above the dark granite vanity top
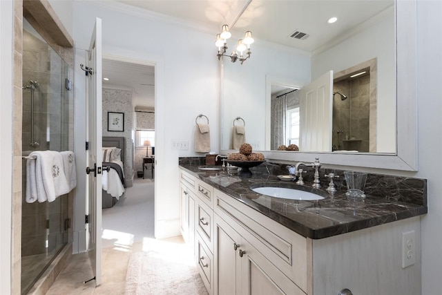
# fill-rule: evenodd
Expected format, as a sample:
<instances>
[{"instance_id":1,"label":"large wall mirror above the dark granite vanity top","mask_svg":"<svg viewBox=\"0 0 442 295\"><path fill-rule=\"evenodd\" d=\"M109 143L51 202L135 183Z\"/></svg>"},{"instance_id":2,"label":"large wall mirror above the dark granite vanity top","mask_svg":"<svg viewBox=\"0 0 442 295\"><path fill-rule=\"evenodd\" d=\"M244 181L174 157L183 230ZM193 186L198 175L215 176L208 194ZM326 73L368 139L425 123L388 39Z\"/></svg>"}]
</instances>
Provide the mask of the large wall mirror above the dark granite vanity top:
<instances>
[{"instance_id":1,"label":"large wall mirror above the dark granite vanity top","mask_svg":"<svg viewBox=\"0 0 442 295\"><path fill-rule=\"evenodd\" d=\"M338 21L327 23L330 17L338 17ZM269 23L262 26L262 19L270 23L279 21L279 26ZM282 28L282 23L287 28ZM252 1L234 28L240 32L251 30L256 42L252 58L243 65L224 62L222 124L227 132L222 138L222 149L233 148L231 138L225 135L233 133L233 120L242 117L247 124L247 142L264 151L277 150L278 146L292 142L300 151L396 153L393 0ZM296 28L307 35L302 39L287 37ZM262 38L270 39L273 44L265 44ZM294 136L289 134L289 129L295 128L289 128L286 122L289 115L285 113L299 105L287 105L285 111L278 112L278 118L274 112L272 116L271 108L276 100L285 99L284 93L292 88L302 91L328 70L334 70L333 92L347 93L348 99L341 100L340 95L329 93L333 116L330 122L320 120L317 124L331 125L332 134L305 134L305 137L330 137L333 142L314 149L302 138L293 140ZM365 75L350 78L363 70ZM266 77L270 79L271 97L266 93ZM284 89L287 83L288 88ZM278 91L273 91L275 86ZM269 114L270 120L266 120ZM299 128L301 131L297 133L312 132L302 123ZM278 136L280 140L275 141L278 129L285 130Z\"/></svg>"}]
</instances>

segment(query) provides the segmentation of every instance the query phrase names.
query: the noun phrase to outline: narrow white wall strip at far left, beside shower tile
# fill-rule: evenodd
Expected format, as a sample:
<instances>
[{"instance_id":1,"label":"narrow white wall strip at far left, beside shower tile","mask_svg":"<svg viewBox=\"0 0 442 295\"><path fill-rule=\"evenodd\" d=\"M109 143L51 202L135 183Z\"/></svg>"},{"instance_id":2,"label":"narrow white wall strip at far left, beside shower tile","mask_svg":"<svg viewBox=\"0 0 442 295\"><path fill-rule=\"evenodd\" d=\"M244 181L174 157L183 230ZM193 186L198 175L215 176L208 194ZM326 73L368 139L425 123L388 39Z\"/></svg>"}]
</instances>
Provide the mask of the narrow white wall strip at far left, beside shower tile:
<instances>
[{"instance_id":1,"label":"narrow white wall strip at far left, beside shower tile","mask_svg":"<svg viewBox=\"0 0 442 295\"><path fill-rule=\"evenodd\" d=\"M0 294L10 294L11 287L12 15L12 1L0 1Z\"/></svg>"}]
</instances>

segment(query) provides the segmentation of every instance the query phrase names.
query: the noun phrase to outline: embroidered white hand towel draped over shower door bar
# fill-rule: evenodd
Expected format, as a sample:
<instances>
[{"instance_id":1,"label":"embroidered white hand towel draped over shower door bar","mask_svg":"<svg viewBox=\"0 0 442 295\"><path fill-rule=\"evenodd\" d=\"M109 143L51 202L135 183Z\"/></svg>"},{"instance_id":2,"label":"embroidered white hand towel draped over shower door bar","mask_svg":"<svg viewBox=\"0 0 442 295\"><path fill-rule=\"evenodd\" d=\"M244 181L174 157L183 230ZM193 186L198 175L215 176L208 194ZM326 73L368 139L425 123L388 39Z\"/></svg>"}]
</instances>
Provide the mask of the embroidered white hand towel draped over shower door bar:
<instances>
[{"instance_id":1,"label":"embroidered white hand towel draped over shower door bar","mask_svg":"<svg viewBox=\"0 0 442 295\"><path fill-rule=\"evenodd\" d=\"M64 174L61 153L57 151L35 151L32 154L37 157L35 160L35 175L39 202L46 200L53 202L58 196L68 193L70 190Z\"/></svg>"}]
</instances>

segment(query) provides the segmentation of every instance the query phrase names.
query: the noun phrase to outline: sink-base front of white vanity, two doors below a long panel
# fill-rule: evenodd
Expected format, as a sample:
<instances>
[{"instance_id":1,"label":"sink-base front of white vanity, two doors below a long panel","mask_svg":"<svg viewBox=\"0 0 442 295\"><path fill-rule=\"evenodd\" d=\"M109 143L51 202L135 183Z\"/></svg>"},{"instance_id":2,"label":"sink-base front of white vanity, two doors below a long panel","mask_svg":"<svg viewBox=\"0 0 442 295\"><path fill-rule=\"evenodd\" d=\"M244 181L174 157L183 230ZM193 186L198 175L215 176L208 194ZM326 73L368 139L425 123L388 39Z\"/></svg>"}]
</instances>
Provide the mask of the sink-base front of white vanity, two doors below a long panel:
<instances>
[{"instance_id":1,"label":"sink-base front of white vanity, two doors below a long panel","mask_svg":"<svg viewBox=\"0 0 442 295\"><path fill-rule=\"evenodd\" d=\"M236 202L215 189L214 294L306 294L307 239Z\"/></svg>"}]
</instances>

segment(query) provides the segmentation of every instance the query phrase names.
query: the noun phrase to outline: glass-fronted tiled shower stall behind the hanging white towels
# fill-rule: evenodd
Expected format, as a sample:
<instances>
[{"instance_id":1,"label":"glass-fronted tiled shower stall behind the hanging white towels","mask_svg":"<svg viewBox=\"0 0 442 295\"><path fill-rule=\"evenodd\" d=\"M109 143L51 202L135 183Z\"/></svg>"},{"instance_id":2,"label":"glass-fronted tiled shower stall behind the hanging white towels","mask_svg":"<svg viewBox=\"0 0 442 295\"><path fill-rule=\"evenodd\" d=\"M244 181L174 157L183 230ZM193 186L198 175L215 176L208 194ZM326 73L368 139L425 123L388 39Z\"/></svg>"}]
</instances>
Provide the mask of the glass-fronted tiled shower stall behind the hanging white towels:
<instances>
[{"instance_id":1,"label":"glass-fronted tiled shower stall behind the hanging white towels","mask_svg":"<svg viewBox=\"0 0 442 295\"><path fill-rule=\"evenodd\" d=\"M21 294L39 280L71 236L68 196L54 202L26 202L26 155L69 149L70 104L65 87L69 66L23 19L23 120L21 206Z\"/></svg>"}]
</instances>

